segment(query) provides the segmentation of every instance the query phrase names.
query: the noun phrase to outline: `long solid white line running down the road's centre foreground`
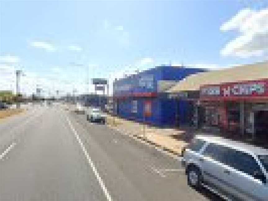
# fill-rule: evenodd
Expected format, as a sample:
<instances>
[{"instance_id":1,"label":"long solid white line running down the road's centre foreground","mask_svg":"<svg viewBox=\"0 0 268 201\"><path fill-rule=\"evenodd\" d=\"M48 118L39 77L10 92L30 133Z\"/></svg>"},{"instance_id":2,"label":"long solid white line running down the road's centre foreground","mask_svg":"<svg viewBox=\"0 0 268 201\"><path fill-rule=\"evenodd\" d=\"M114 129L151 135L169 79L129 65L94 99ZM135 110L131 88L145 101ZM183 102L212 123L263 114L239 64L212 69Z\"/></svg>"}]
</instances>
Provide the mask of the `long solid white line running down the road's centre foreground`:
<instances>
[{"instance_id":1,"label":"long solid white line running down the road's centre foreground","mask_svg":"<svg viewBox=\"0 0 268 201\"><path fill-rule=\"evenodd\" d=\"M108 190L107 190L107 188L106 188L106 186L105 186L103 180L102 180L101 177L100 177L99 172L97 171L97 169L96 169L94 163L92 162L92 160L91 160L89 154L87 153L87 150L86 150L85 146L83 145L83 142L82 142L81 139L79 138L79 135L77 134L76 130L74 129L74 127L73 127L72 123L70 122L68 116L66 116L66 119L67 119L67 121L68 121L68 124L69 124L71 130L74 132L74 135L76 136L76 139L77 139L78 143L80 144L80 146L81 146L81 148L82 148L82 150L83 150L85 156L87 157L88 163L89 163L90 167L92 168L92 171L94 172L94 175L96 176L96 178L97 178L97 180L98 180L98 182L99 182L99 184L100 184L100 186L101 186L101 189L102 189L102 191L104 192L104 194L105 194L105 196L106 196L106 199L107 199L108 201L112 201L112 197L111 197L111 195L109 194L109 192L108 192Z\"/></svg>"}]
</instances>

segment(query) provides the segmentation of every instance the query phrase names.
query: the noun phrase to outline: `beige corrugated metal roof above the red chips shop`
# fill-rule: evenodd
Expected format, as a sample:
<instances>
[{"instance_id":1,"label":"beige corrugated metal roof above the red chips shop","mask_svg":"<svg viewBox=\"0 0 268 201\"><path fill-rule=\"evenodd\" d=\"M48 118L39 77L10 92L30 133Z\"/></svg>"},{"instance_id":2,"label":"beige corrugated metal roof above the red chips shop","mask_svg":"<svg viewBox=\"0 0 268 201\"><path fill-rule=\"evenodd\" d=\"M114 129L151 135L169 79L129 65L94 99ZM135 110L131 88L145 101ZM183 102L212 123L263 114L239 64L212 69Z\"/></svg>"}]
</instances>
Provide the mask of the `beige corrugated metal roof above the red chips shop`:
<instances>
[{"instance_id":1,"label":"beige corrugated metal roof above the red chips shop","mask_svg":"<svg viewBox=\"0 0 268 201\"><path fill-rule=\"evenodd\" d=\"M196 91L201 85L268 78L268 61L190 75L167 92Z\"/></svg>"}]
</instances>

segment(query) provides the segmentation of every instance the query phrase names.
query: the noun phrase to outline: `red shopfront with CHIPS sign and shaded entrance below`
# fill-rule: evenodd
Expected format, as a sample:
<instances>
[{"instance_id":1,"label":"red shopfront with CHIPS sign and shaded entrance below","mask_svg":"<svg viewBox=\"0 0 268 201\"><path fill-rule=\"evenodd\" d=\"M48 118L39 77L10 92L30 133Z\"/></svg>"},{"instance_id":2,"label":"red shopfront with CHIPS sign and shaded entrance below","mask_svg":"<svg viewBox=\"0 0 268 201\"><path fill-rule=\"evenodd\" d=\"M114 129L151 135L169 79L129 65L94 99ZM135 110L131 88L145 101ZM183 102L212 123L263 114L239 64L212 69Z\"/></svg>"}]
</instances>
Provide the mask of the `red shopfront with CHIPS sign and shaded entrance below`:
<instances>
[{"instance_id":1,"label":"red shopfront with CHIPS sign and shaded entrance below","mask_svg":"<svg viewBox=\"0 0 268 201\"><path fill-rule=\"evenodd\" d=\"M205 85L200 101L206 125L268 139L268 79Z\"/></svg>"}]
</instances>

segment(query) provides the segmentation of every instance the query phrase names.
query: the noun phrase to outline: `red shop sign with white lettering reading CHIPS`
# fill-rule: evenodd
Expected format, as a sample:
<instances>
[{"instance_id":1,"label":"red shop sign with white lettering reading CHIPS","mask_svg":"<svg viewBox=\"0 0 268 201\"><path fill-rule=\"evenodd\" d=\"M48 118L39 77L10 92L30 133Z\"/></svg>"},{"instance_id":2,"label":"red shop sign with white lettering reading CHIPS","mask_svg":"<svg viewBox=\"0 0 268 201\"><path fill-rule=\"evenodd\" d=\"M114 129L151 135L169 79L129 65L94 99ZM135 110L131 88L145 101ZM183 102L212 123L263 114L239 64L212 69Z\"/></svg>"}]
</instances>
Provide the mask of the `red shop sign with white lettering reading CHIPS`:
<instances>
[{"instance_id":1,"label":"red shop sign with white lettering reading CHIPS","mask_svg":"<svg viewBox=\"0 0 268 201\"><path fill-rule=\"evenodd\" d=\"M268 79L200 87L200 98L268 98Z\"/></svg>"}]
</instances>

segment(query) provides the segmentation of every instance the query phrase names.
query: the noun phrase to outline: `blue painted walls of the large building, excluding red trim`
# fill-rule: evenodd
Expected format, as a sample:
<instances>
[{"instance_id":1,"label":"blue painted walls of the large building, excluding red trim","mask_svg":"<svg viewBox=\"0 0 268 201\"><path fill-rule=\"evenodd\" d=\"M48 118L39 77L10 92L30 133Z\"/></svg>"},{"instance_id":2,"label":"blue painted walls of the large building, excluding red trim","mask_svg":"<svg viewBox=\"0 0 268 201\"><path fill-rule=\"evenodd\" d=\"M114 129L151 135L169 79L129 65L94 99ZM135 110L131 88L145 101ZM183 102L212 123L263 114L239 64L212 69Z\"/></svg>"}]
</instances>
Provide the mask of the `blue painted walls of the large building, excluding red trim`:
<instances>
[{"instance_id":1,"label":"blue painted walls of the large building, excluding red trim","mask_svg":"<svg viewBox=\"0 0 268 201\"><path fill-rule=\"evenodd\" d=\"M157 84L160 80L182 80L190 74L204 72L203 69L181 68L172 66L158 66L154 69L143 71L139 74L128 76L114 82L114 96L130 96L118 99L118 115L133 119L138 122L146 122L153 125L176 125L176 116L179 115L179 123L187 123L187 108L189 104L185 101L162 98L133 97L133 93L157 92ZM132 113L132 100L138 101L137 113ZM144 116L144 101L152 101L152 116Z\"/></svg>"}]
</instances>

